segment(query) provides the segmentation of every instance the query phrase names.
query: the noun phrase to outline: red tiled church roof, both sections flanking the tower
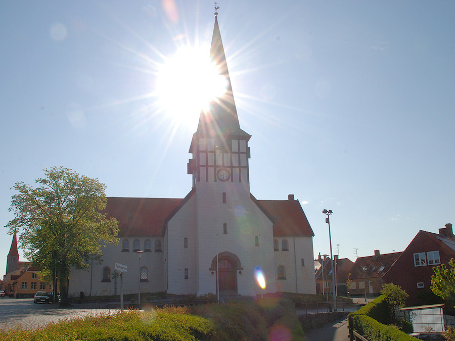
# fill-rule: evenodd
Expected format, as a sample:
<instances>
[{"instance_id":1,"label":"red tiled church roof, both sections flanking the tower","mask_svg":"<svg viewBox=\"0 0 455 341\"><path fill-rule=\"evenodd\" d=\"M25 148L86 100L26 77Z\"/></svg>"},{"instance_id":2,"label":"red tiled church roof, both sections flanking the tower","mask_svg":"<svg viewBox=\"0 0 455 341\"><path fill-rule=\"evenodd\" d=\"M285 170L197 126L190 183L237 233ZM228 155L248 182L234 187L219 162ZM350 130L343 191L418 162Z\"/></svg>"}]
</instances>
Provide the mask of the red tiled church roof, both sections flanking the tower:
<instances>
[{"instance_id":1,"label":"red tiled church roof, both sections flanking the tower","mask_svg":"<svg viewBox=\"0 0 455 341\"><path fill-rule=\"evenodd\" d=\"M185 199L109 197L103 212L117 219L119 236L162 235L165 223L192 193ZM275 222L274 235L314 236L298 200L252 199Z\"/></svg>"}]
</instances>

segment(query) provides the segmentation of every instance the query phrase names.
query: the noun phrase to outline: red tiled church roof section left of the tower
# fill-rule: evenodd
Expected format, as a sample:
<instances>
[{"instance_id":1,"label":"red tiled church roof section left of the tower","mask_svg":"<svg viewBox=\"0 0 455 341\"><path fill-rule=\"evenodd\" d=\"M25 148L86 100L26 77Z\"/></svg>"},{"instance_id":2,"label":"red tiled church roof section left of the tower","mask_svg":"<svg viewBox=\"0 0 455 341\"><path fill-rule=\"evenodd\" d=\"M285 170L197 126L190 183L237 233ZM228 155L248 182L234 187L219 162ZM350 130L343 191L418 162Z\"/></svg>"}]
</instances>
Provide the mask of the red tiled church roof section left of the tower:
<instances>
[{"instance_id":1,"label":"red tiled church roof section left of the tower","mask_svg":"<svg viewBox=\"0 0 455 341\"><path fill-rule=\"evenodd\" d=\"M117 219L119 236L161 235L164 220L182 200L109 197L104 212Z\"/></svg>"}]
</instances>

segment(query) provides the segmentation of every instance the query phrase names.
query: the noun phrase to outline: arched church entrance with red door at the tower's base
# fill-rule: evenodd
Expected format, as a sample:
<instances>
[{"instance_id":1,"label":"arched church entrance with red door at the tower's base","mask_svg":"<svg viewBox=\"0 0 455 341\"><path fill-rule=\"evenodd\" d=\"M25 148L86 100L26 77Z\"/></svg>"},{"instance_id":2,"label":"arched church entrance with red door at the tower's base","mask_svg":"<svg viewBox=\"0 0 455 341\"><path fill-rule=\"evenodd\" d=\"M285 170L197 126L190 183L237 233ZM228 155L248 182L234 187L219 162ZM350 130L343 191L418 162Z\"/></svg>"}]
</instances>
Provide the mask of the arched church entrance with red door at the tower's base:
<instances>
[{"instance_id":1,"label":"arched church entrance with red door at the tower's base","mask_svg":"<svg viewBox=\"0 0 455 341\"><path fill-rule=\"evenodd\" d=\"M210 270L215 272L218 270L215 281L219 281L216 287L220 293L237 293L237 271L243 270L239 257L230 252L221 252L218 257L213 258Z\"/></svg>"}]
</instances>

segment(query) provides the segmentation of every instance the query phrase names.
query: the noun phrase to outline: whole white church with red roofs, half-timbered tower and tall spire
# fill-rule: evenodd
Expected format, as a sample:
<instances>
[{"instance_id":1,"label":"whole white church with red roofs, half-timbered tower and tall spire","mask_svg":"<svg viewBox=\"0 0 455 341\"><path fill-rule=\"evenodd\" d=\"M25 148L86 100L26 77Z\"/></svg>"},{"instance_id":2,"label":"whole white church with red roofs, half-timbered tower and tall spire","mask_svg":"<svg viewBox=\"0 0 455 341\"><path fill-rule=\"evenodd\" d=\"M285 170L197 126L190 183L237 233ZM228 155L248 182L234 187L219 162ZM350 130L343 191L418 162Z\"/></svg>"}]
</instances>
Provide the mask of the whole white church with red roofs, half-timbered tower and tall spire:
<instances>
[{"instance_id":1,"label":"whole white church with red roofs, half-timbered tower and tall spire","mask_svg":"<svg viewBox=\"0 0 455 341\"><path fill-rule=\"evenodd\" d=\"M69 296L118 295L116 263L127 267L124 294L315 294L314 233L299 201L250 193L251 135L240 128L217 16L210 57L227 85L189 141L192 189L183 199L109 197L118 246L71 271Z\"/></svg>"}]
</instances>

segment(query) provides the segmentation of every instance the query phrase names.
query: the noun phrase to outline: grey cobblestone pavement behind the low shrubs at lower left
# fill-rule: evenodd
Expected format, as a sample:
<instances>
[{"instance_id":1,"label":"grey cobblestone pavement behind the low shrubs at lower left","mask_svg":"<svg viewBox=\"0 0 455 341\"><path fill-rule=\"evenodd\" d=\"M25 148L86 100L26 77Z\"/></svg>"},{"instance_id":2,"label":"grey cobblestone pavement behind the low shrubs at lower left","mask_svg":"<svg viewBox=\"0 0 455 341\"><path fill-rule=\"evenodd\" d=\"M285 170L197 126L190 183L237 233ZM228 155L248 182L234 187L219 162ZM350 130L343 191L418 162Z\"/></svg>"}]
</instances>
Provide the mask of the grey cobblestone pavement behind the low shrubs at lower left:
<instances>
[{"instance_id":1,"label":"grey cobblestone pavement behind the low shrubs at lower left","mask_svg":"<svg viewBox=\"0 0 455 341\"><path fill-rule=\"evenodd\" d=\"M0 299L0 326L11 328L21 324L24 328L37 328L62 319L80 318L101 313L115 314L118 309L98 309L99 304L74 305L59 308L57 304L34 304L33 299Z\"/></svg>"}]
</instances>

